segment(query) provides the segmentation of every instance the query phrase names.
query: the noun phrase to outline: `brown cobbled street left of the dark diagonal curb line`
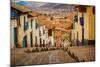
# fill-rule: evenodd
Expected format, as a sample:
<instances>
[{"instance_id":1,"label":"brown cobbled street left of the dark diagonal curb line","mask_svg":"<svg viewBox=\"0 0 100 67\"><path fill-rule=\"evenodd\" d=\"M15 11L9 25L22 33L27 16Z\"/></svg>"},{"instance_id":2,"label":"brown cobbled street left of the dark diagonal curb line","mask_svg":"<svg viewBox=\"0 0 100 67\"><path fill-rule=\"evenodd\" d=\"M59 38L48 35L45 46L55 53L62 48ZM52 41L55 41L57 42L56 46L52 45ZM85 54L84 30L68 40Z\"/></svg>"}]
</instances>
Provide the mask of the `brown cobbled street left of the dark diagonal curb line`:
<instances>
[{"instance_id":1,"label":"brown cobbled street left of the dark diagonal curb line","mask_svg":"<svg viewBox=\"0 0 100 67\"><path fill-rule=\"evenodd\" d=\"M76 62L63 50L25 53L23 49L11 50L11 65L36 65Z\"/></svg>"}]
</instances>

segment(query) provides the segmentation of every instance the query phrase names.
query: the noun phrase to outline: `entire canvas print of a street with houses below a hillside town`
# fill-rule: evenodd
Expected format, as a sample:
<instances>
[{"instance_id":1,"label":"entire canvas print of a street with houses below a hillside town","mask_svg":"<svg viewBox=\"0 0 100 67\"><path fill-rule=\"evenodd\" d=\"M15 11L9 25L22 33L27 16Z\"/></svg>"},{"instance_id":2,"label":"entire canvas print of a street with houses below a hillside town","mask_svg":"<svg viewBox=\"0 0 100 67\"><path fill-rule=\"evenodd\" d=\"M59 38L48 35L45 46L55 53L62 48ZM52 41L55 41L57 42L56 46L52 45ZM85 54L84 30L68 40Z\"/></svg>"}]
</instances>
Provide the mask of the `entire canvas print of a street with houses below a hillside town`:
<instances>
[{"instance_id":1,"label":"entire canvas print of a street with houses below a hillside town","mask_svg":"<svg viewBox=\"0 0 100 67\"><path fill-rule=\"evenodd\" d=\"M11 65L95 61L95 6L33 4L11 2Z\"/></svg>"}]
</instances>

